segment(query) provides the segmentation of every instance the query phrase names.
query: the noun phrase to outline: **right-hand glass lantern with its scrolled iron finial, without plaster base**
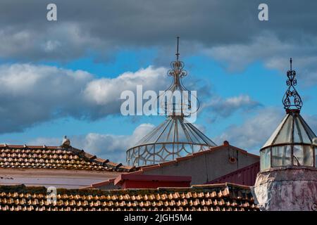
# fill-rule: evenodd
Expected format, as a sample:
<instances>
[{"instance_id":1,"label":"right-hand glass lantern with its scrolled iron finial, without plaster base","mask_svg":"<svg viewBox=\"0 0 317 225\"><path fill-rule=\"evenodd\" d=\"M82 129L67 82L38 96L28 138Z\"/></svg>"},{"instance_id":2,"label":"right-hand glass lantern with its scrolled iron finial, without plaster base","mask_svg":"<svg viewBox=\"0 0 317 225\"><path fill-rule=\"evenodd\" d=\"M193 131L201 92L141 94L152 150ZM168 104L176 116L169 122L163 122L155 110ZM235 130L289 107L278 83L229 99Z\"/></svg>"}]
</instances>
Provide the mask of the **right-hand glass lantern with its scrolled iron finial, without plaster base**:
<instances>
[{"instance_id":1,"label":"right-hand glass lantern with its scrolled iron finial, without plaster base","mask_svg":"<svg viewBox=\"0 0 317 225\"><path fill-rule=\"evenodd\" d=\"M290 166L316 167L316 134L300 115L303 103L294 87L297 85L295 76L291 58L290 70L287 71L288 89L282 100L286 115L260 150L261 170Z\"/></svg>"}]
</instances>

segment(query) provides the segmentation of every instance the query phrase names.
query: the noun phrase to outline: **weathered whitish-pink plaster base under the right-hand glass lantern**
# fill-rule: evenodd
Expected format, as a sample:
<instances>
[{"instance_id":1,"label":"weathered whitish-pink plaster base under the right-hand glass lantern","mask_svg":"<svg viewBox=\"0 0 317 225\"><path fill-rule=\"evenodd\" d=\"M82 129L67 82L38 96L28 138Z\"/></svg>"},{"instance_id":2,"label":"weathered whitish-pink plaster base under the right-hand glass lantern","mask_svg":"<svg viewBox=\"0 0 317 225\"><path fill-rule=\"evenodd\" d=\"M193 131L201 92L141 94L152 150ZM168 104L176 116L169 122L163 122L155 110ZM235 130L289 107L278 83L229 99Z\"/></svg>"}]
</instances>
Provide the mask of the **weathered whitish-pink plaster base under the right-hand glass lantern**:
<instances>
[{"instance_id":1,"label":"weathered whitish-pink plaster base under the right-hand glass lantern","mask_svg":"<svg viewBox=\"0 0 317 225\"><path fill-rule=\"evenodd\" d=\"M317 169L289 167L259 172L254 195L260 210L317 210Z\"/></svg>"}]
</instances>

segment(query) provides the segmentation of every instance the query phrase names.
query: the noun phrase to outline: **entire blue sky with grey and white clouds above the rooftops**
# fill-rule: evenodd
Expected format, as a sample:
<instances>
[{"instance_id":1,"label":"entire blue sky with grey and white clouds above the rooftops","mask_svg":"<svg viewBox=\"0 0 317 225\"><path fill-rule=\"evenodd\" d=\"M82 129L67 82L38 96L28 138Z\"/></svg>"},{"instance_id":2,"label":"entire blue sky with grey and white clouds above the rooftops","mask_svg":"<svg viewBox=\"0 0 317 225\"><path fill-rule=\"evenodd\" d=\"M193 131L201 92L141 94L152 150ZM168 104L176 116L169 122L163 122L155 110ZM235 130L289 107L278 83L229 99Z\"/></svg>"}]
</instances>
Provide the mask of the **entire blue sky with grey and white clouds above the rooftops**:
<instances>
[{"instance_id":1,"label":"entire blue sky with grey and white clouds above the rooftops","mask_svg":"<svg viewBox=\"0 0 317 225\"><path fill-rule=\"evenodd\" d=\"M57 5L57 21L46 6ZM268 4L268 21L258 6ZM289 58L302 115L317 131L317 2L16 1L0 3L0 142L59 145L113 161L160 116L120 115L120 93L164 90L180 36L197 127L258 153L282 120Z\"/></svg>"}]
</instances>

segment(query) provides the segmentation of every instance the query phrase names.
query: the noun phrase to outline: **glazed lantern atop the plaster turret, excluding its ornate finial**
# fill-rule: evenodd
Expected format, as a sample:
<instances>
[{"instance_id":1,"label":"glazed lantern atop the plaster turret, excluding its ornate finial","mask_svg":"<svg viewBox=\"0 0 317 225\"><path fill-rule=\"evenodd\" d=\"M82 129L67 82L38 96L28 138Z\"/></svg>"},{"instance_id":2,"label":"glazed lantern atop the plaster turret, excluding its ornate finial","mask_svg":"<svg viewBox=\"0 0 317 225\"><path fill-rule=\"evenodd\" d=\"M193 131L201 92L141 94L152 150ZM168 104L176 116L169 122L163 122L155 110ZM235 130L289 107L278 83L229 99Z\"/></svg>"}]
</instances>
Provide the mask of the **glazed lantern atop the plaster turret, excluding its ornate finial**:
<instances>
[{"instance_id":1,"label":"glazed lantern atop the plaster turret, excluding its ornate finial","mask_svg":"<svg viewBox=\"0 0 317 225\"><path fill-rule=\"evenodd\" d=\"M260 150L260 170L276 167L317 168L316 135L304 121L299 110L287 110L271 138Z\"/></svg>"}]
</instances>

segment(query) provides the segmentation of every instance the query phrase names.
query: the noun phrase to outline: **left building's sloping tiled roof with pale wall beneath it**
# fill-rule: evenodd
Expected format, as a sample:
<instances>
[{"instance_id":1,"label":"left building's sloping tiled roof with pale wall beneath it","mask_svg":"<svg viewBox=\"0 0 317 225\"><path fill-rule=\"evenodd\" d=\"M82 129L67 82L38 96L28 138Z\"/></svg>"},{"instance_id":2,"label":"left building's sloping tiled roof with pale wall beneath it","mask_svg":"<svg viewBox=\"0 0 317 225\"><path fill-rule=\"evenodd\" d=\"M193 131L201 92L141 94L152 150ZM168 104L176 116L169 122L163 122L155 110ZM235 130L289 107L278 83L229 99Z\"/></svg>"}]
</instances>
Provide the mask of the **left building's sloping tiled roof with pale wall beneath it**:
<instances>
[{"instance_id":1,"label":"left building's sloping tiled roof with pale wall beneath it","mask_svg":"<svg viewBox=\"0 0 317 225\"><path fill-rule=\"evenodd\" d=\"M0 145L0 185L82 188L135 167L97 158L70 146Z\"/></svg>"}]
</instances>

